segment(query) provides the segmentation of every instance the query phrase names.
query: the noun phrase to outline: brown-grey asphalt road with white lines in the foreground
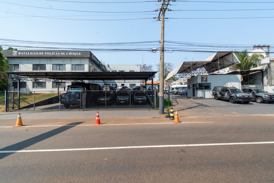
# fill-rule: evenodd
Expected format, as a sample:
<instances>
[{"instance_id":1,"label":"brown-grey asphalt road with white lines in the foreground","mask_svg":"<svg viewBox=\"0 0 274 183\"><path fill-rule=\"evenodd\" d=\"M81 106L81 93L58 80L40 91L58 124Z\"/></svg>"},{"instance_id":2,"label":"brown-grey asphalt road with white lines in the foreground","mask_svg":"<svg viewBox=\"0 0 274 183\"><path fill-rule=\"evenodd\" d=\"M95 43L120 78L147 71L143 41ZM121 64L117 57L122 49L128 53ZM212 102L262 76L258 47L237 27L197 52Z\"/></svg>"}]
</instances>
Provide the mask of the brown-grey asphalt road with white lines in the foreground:
<instances>
[{"instance_id":1,"label":"brown-grey asphalt road with white lines in the foreground","mask_svg":"<svg viewBox=\"0 0 274 183\"><path fill-rule=\"evenodd\" d=\"M1 120L0 180L274 182L273 117Z\"/></svg>"}]
</instances>

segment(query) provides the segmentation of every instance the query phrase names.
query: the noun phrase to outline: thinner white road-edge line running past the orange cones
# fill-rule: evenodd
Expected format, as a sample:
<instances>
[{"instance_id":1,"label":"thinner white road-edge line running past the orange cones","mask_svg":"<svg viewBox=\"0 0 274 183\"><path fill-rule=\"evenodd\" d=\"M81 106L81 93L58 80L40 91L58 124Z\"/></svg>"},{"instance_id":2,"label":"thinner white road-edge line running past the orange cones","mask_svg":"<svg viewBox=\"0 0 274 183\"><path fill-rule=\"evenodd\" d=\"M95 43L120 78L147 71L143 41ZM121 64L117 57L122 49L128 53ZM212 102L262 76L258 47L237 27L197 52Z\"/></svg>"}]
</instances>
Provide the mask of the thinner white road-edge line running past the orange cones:
<instances>
[{"instance_id":1,"label":"thinner white road-edge line running past the orange cones","mask_svg":"<svg viewBox=\"0 0 274 183\"><path fill-rule=\"evenodd\" d=\"M214 122L181 122L184 123L214 123ZM132 123L132 124L180 124L180 123ZM104 125L132 125L132 124L102 124ZM41 125L41 126L22 126L22 127L65 127L65 126L94 126L94 124L76 124L76 125ZM97 125L96 125L97 126ZM11 128L11 127L0 127L0 128Z\"/></svg>"}]
</instances>

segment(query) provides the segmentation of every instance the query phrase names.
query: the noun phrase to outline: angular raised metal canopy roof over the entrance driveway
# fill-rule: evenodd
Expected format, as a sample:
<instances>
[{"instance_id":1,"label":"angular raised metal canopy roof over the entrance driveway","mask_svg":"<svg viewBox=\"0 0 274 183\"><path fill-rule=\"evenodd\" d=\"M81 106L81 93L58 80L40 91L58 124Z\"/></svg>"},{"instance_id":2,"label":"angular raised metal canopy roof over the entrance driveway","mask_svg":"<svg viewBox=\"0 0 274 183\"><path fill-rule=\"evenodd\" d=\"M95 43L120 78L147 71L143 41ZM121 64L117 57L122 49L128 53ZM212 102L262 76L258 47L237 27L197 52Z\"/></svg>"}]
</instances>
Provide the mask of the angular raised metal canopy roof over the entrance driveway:
<instances>
[{"instance_id":1,"label":"angular raised metal canopy roof over the entrance driveway","mask_svg":"<svg viewBox=\"0 0 274 183\"><path fill-rule=\"evenodd\" d=\"M167 75L165 81L172 77L187 79L191 76L210 74L238 63L240 60L234 52L216 52L203 61L184 61Z\"/></svg>"}]
</instances>

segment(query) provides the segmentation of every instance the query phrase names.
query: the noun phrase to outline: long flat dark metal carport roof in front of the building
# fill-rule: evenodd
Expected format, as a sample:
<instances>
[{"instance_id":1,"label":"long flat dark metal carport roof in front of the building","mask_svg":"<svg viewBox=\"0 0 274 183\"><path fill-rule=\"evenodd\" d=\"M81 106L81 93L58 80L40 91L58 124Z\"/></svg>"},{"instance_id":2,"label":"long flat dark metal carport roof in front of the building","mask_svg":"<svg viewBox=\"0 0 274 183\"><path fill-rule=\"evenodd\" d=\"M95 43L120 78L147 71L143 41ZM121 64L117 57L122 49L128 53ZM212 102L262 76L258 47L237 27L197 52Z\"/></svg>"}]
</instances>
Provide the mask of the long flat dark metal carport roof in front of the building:
<instances>
[{"instance_id":1,"label":"long flat dark metal carport roof in front of the building","mask_svg":"<svg viewBox=\"0 0 274 183\"><path fill-rule=\"evenodd\" d=\"M157 72L7 72L12 79L28 81L139 82L151 80Z\"/></svg>"}]
</instances>

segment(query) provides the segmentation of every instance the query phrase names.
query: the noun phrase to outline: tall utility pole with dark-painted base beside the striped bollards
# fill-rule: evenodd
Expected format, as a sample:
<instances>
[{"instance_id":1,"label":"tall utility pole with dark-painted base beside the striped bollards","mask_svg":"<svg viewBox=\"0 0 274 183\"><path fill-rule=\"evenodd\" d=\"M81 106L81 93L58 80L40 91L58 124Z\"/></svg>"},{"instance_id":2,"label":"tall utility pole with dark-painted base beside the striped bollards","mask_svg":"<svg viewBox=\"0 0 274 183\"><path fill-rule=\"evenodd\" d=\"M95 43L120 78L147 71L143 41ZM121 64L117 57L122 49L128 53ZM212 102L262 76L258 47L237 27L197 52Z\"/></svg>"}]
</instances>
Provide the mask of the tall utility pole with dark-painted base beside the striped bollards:
<instances>
[{"instance_id":1,"label":"tall utility pole with dark-painted base beside the striped bollards","mask_svg":"<svg viewBox=\"0 0 274 183\"><path fill-rule=\"evenodd\" d=\"M164 85L164 22L165 12L170 0L163 0L162 7L159 12L158 20L160 21L161 15L161 44L160 44L160 88L159 88L159 114L164 114L164 96L163 96L163 85Z\"/></svg>"}]
</instances>

